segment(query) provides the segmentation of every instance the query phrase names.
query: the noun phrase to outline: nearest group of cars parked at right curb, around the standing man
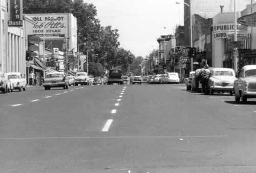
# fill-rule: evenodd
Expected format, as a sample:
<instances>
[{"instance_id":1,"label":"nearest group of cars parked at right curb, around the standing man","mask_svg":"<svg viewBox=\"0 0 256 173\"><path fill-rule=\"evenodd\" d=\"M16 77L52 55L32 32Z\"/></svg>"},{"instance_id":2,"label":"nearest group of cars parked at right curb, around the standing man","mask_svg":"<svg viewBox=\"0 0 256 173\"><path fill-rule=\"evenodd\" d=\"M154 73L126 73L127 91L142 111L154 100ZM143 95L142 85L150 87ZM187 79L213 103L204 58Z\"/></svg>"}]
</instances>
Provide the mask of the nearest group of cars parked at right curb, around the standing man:
<instances>
[{"instance_id":1,"label":"nearest group of cars parked at right curb, around the standing man","mask_svg":"<svg viewBox=\"0 0 256 173\"><path fill-rule=\"evenodd\" d=\"M189 73L189 77L185 79L187 90L202 92L201 70L197 69L195 72ZM241 100L244 104L248 98L256 98L256 65L244 66L239 75L236 75L230 68L209 68L209 70L210 76L208 88L204 91L205 95L228 92L230 95L234 95L236 102Z\"/></svg>"}]
</instances>

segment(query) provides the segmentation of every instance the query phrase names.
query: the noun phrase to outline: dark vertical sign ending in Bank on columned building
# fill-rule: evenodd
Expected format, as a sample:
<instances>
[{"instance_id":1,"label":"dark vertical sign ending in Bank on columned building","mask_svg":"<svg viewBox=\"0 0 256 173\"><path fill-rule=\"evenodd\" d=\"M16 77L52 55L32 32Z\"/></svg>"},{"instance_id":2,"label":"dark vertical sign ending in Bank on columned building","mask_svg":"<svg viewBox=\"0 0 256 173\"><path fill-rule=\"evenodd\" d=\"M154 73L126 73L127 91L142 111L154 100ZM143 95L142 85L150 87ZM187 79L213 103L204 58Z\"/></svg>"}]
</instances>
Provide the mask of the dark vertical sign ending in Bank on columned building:
<instances>
[{"instance_id":1,"label":"dark vertical sign ending in Bank on columned building","mask_svg":"<svg viewBox=\"0 0 256 173\"><path fill-rule=\"evenodd\" d=\"M9 27L23 26L23 0L9 0Z\"/></svg>"}]
</instances>

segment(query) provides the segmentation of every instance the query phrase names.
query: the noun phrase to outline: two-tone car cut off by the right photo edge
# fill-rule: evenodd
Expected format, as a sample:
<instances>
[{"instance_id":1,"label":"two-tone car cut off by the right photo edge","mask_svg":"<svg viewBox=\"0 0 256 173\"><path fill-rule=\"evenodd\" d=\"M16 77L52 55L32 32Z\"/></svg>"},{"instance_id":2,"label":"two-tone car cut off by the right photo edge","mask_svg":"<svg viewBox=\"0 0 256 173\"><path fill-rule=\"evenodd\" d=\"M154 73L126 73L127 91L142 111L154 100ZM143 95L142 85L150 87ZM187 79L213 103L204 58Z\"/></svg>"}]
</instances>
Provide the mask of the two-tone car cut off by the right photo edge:
<instances>
[{"instance_id":1,"label":"two-tone car cut off by the right photo edge","mask_svg":"<svg viewBox=\"0 0 256 173\"><path fill-rule=\"evenodd\" d=\"M244 66L238 79L234 81L234 100L243 104L248 98L256 98L256 65Z\"/></svg>"}]
</instances>

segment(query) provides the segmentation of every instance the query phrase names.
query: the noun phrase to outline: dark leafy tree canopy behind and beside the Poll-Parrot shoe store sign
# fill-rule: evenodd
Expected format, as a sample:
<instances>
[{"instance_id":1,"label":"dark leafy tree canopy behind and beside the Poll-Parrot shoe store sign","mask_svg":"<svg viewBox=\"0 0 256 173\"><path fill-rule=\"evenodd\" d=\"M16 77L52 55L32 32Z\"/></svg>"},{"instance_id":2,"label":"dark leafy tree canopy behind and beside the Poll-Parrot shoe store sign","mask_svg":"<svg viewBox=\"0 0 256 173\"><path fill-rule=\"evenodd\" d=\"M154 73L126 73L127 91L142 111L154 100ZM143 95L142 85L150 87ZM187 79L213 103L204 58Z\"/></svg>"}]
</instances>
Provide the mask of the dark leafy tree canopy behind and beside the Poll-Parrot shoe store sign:
<instances>
[{"instance_id":1,"label":"dark leafy tree canopy behind and beside the Poll-Parrot shoe store sign","mask_svg":"<svg viewBox=\"0 0 256 173\"><path fill-rule=\"evenodd\" d=\"M129 71L129 66L135 56L123 48L119 48L119 34L111 26L102 27L96 18L97 10L93 4L84 3L83 0L24 0L23 12L33 13L72 13L77 19L77 43L83 54L89 51L89 61L92 54L98 54L102 66L106 69L119 66L123 73ZM81 45L81 44L86 45ZM96 66L92 66L96 67ZM92 68L89 68L90 74Z\"/></svg>"}]
</instances>

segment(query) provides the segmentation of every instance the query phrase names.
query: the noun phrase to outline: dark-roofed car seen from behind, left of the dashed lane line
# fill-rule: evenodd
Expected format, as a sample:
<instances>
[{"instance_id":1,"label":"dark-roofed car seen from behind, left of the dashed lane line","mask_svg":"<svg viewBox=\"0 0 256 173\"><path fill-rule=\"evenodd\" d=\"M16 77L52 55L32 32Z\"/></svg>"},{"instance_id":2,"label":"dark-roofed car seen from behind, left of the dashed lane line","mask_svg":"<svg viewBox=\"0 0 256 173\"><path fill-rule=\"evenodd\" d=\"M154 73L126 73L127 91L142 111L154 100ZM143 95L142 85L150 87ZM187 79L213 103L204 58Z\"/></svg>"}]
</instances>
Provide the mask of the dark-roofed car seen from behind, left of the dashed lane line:
<instances>
[{"instance_id":1,"label":"dark-roofed car seen from behind, left of the dashed lane line","mask_svg":"<svg viewBox=\"0 0 256 173\"><path fill-rule=\"evenodd\" d=\"M51 88L63 87L63 89L69 88L69 77L63 72L51 72L47 73L46 77L42 79L42 86L45 90Z\"/></svg>"}]
</instances>

